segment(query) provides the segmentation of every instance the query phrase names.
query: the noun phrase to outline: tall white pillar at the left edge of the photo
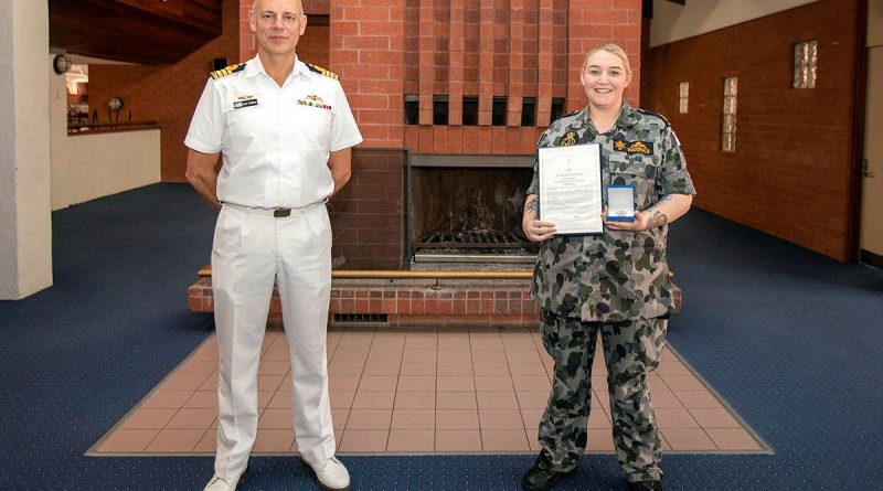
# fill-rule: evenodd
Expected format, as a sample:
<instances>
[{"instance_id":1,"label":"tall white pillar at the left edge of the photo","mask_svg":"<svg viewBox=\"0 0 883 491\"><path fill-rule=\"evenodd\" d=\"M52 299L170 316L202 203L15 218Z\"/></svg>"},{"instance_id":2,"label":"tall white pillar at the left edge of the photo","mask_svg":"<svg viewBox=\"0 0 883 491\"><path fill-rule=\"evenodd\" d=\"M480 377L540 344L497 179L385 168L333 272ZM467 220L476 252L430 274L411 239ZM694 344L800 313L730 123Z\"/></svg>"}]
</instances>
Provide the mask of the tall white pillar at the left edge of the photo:
<instances>
[{"instance_id":1,"label":"tall white pillar at the left edge of the photo","mask_svg":"<svg viewBox=\"0 0 883 491\"><path fill-rule=\"evenodd\" d=\"M0 2L0 299L52 285L49 7Z\"/></svg>"}]
</instances>

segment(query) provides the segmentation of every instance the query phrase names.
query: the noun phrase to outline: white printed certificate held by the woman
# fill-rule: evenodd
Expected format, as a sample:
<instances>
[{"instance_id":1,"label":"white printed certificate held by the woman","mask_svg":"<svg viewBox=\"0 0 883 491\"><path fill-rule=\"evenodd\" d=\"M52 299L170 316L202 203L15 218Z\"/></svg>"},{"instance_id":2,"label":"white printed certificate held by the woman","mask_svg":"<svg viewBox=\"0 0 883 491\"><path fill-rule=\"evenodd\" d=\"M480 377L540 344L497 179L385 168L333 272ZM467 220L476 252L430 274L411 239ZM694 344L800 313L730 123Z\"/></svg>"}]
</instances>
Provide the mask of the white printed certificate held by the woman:
<instances>
[{"instance_id":1,"label":"white printed certificate held by the woman","mask_svg":"<svg viewBox=\"0 0 883 491\"><path fill-rule=\"evenodd\" d=\"M541 148L540 220L558 234L600 234L600 146Z\"/></svg>"}]
</instances>

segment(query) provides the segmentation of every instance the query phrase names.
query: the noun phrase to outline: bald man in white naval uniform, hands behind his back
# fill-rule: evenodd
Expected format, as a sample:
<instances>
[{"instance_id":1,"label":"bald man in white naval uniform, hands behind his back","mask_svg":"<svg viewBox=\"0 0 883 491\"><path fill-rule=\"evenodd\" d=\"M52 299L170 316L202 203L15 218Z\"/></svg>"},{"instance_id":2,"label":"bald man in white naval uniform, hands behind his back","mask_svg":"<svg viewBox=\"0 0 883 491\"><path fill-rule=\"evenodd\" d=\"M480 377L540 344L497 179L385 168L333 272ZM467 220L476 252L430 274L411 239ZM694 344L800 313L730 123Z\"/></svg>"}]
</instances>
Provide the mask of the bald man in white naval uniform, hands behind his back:
<instances>
[{"instance_id":1,"label":"bald man in white naval uniform, hands behind his back","mask_svg":"<svg viewBox=\"0 0 883 491\"><path fill-rule=\"evenodd\" d=\"M325 202L349 181L351 147L362 136L337 75L297 57L307 26L300 0L257 0L248 23L257 56L212 73L184 140L188 180L220 209L212 246L217 450L205 490L235 490L248 473L274 281L291 360L297 448L322 489L347 490L328 401Z\"/></svg>"}]
</instances>

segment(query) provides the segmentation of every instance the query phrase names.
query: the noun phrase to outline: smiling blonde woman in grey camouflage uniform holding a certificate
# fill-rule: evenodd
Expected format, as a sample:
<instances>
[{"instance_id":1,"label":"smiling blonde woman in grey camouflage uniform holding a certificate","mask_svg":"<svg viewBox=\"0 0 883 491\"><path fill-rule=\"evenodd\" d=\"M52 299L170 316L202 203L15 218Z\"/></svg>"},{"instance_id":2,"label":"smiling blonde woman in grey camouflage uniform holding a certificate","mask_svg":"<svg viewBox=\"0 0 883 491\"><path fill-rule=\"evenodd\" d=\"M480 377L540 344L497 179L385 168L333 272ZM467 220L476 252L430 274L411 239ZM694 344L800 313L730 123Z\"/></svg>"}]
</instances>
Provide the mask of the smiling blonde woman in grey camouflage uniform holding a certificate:
<instances>
[{"instance_id":1,"label":"smiling blonde woman in grey camouflage uniform holding a certificate","mask_svg":"<svg viewBox=\"0 0 883 491\"><path fill-rule=\"evenodd\" d=\"M635 186L635 221L608 222L599 235L556 235L538 220L538 166L522 227L542 248L531 292L540 302L543 343L555 361L549 405L540 421L543 450L524 476L526 491L551 489L576 471L585 450L592 361L600 335L616 453L630 490L661 490L659 431L648 373L659 364L672 293L666 263L668 224L695 194L668 121L631 108L623 92L631 68L621 47L588 52L579 81L588 105L554 121L538 148L599 143L604 195L610 184Z\"/></svg>"}]
</instances>

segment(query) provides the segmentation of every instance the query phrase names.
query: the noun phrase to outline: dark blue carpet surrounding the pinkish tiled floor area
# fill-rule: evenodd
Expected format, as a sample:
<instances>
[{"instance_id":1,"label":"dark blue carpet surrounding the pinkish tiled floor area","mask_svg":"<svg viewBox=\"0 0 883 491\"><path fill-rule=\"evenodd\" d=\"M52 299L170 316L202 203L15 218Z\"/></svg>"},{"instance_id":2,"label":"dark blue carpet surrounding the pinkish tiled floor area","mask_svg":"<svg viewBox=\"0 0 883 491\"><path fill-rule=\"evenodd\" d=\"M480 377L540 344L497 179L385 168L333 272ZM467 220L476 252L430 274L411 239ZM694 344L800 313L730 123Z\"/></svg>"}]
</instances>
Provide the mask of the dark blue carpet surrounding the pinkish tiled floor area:
<instances>
[{"instance_id":1,"label":"dark blue carpet surrounding the pinkish tiled floor area","mask_svg":"<svg viewBox=\"0 0 883 491\"><path fill-rule=\"evenodd\" d=\"M158 184L53 213L55 285L0 302L0 489L200 490L212 459L83 453L212 332L187 310L213 213ZM883 488L883 273L693 210L672 227L684 291L669 340L773 455L670 455L671 490ZM514 490L531 456L344 457L353 490ZM252 459L241 489L316 489ZM561 490L624 489L592 455Z\"/></svg>"}]
</instances>

